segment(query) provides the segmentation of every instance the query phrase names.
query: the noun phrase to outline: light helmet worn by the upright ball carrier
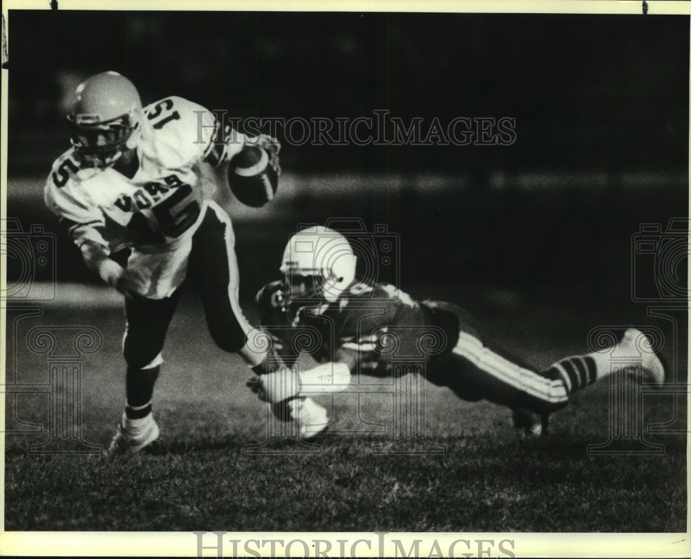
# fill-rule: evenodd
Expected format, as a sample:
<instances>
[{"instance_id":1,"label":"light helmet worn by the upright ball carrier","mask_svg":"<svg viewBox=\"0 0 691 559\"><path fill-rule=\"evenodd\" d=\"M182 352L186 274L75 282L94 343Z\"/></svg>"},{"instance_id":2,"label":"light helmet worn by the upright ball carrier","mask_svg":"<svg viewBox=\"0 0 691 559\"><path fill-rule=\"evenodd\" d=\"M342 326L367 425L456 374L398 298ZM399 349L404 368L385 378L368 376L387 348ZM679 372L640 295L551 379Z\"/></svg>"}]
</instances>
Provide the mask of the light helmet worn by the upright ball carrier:
<instances>
[{"instance_id":1,"label":"light helmet worn by the upright ball carrier","mask_svg":"<svg viewBox=\"0 0 691 559\"><path fill-rule=\"evenodd\" d=\"M75 154L86 167L111 166L139 141L143 122L142 100L129 79L117 72L102 72L79 84L67 119Z\"/></svg>"}]
</instances>

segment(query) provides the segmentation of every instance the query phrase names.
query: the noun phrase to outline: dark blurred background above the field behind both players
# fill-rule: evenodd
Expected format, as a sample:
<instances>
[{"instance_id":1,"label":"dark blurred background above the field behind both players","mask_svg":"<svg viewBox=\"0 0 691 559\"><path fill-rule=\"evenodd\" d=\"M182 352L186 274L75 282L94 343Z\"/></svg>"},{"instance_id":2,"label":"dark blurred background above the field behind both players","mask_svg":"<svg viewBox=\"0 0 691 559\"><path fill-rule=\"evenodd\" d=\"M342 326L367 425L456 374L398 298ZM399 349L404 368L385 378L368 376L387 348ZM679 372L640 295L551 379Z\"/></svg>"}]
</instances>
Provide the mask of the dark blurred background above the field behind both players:
<instances>
[{"instance_id":1,"label":"dark blurred background above the field behind both players","mask_svg":"<svg viewBox=\"0 0 691 559\"><path fill-rule=\"evenodd\" d=\"M12 10L8 29L8 216L58 235L59 280L93 278L42 184L69 145L71 92L104 70L145 104L180 95L243 118L515 118L511 146L283 139L278 197L230 210L243 297L274 278L297 223L358 216L400 235L415 294L630 304L632 235L688 215L688 17ZM654 291L646 266L636 282Z\"/></svg>"}]
</instances>

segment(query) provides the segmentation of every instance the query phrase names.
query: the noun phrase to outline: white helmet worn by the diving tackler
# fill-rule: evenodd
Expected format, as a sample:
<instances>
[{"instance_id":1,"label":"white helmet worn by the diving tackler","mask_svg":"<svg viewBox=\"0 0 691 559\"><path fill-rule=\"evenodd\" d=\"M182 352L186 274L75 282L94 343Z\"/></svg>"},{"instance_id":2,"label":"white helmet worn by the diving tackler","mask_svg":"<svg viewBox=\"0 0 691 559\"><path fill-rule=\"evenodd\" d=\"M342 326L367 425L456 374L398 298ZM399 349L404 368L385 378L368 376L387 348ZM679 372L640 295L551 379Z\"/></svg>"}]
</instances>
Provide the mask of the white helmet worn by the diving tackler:
<instances>
[{"instance_id":1,"label":"white helmet worn by the diving tackler","mask_svg":"<svg viewBox=\"0 0 691 559\"><path fill-rule=\"evenodd\" d=\"M352 284L357 257L341 233L328 227L303 229L283 251L281 273L291 302L334 302Z\"/></svg>"}]
</instances>

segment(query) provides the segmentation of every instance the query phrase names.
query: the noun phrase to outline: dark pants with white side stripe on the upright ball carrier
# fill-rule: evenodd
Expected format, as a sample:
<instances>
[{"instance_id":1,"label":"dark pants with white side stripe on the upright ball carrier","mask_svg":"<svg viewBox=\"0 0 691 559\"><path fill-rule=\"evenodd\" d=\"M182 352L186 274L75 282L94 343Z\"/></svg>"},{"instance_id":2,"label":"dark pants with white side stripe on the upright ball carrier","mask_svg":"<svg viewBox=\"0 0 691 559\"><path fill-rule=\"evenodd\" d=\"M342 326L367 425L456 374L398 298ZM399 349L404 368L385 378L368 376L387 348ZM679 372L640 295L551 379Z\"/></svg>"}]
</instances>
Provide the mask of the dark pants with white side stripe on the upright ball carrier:
<instances>
[{"instance_id":1,"label":"dark pants with white side stripe on the upright ball carrier","mask_svg":"<svg viewBox=\"0 0 691 559\"><path fill-rule=\"evenodd\" d=\"M263 356L249 348L247 335L252 326L238 304L238 264L231 224L227 215L213 206L209 206L193 234L185 282L193 284L202 299L214 342L225 351L240 353L248 363L261 361ZM131 405L141 405L131 402L129 397L133 391L131 385L138 382L138 372L156 369L158 373L158 365L162 362L160 352L180 293L178 288L170 297L160 300L136 294L125 300L123 353L128 368L128 402ZM151 384L153 390L153 382ZM149 391L144 392L135 400L146 400Z\"/></svg>"}]
</instances>

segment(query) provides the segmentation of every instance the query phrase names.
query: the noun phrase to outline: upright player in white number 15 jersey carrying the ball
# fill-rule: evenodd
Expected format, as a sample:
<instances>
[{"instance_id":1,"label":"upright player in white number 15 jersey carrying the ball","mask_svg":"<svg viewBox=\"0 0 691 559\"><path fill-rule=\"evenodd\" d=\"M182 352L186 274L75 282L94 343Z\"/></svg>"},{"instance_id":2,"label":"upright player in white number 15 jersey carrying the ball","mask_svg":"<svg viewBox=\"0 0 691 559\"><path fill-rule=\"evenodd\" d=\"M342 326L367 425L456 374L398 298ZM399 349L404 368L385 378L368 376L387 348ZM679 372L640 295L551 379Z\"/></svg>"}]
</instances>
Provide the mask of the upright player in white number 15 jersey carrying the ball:
<instances>
[{"instance_id":1,"label":"upright player in white number 15 jersey carrying the ball","mask_svg":"<svg viewBox=\"0 0 691 559\"><path fill-rule=\"evenodd\" d=\"M79 85L68 120L73 146L53 165L46 204L68 224L86 266L125 295L126 406L110 451L138 451L159 435L151 398L184 280L200 293L218 346L249 366L265 358L238 304L233 228L213 197L228 188L229 161L249 145L263 150L263 167L245 175L277 182L280 146L223 127L180 97L142 107L116 72ZM111 258L123 248L124 267Z\"/></svg>"}]
</instances>

